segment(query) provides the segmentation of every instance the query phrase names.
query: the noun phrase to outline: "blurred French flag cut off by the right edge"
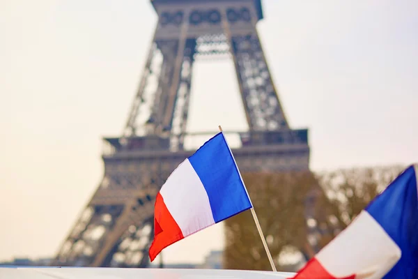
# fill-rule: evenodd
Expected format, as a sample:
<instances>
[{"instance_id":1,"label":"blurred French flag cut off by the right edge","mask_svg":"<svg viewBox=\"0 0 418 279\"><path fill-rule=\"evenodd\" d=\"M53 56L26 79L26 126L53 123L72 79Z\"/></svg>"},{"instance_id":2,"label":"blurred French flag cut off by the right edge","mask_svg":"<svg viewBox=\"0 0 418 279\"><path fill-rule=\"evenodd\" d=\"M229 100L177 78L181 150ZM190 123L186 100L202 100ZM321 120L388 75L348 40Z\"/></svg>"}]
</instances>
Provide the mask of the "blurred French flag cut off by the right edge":
<instances>
[{"instance_id":1,"label":"blurred French flag cut off by the right edge","mask_svg":"<svg viewBox=\"0 0 418 279\"><path fill-rule=\"evenodd\" d=\"M293 278L418 278L417 174L405 169Z\"/></svg>"}]
</instances>

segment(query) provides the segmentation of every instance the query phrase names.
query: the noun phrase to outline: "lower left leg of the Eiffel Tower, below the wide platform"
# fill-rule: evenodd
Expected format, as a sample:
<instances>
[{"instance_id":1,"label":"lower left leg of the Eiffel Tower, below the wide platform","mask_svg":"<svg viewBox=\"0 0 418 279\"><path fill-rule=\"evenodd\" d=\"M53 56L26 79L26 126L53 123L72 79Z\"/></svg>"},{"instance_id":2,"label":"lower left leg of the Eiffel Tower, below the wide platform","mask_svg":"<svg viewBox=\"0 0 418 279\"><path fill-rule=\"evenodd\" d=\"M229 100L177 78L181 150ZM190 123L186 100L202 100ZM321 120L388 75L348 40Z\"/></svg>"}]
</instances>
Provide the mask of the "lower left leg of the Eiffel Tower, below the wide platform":
<instances>
[{"instance_id":1,"label":"lower left leg of the Eiffel Tower, below the wide platform","mask_svg":"<svg viewBox=\"0 0 418 279\"><path fill-rule=\"evenodd\" d=\"M155 195L167 173L155 160L106 159L100 187L52 264L147 266Z\"/></svg>"}]
</instances>

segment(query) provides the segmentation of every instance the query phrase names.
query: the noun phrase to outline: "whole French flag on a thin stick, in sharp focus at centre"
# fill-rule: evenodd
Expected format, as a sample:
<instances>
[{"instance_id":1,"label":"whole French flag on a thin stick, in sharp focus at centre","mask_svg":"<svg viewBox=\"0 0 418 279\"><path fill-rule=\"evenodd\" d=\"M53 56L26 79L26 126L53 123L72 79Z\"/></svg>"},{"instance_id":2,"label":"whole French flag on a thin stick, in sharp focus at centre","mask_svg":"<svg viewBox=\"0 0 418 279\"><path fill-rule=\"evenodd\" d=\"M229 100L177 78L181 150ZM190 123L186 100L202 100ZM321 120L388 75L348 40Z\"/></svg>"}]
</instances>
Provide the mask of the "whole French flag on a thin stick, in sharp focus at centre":
<instances>
[{"instance_id":1,"label":"whole French flag on a thin stick, in sharp focus at centre","mask_svg":"<svg viewBox=\"0 0 418 279\"><path fill-rule=\"evenodd\" d=\"M231 149L218 133L184 160L157 194L151 262L167 246L251 208Z\"/></svg>"}]
</instances>

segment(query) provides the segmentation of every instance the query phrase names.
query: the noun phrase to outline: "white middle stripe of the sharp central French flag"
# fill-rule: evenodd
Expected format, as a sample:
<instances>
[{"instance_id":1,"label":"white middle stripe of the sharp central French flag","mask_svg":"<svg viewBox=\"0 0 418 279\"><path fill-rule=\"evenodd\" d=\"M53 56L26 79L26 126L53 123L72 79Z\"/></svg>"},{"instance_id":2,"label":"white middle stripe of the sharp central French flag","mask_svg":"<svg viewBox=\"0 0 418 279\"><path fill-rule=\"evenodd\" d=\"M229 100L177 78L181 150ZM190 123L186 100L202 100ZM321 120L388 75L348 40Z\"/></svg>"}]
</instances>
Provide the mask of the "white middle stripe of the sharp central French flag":
<instances>
[{"instance_id":1,"label":"white middle stripe of the sharp central French flag","mask_svg":"<svg viewBox=\"0 0 418 279\"><path fill-rule=\"evenodd\" d=\"M160 194L183 236L215 224L208 194L188 159L169 176Z\"/></svg>"}]
</instances>

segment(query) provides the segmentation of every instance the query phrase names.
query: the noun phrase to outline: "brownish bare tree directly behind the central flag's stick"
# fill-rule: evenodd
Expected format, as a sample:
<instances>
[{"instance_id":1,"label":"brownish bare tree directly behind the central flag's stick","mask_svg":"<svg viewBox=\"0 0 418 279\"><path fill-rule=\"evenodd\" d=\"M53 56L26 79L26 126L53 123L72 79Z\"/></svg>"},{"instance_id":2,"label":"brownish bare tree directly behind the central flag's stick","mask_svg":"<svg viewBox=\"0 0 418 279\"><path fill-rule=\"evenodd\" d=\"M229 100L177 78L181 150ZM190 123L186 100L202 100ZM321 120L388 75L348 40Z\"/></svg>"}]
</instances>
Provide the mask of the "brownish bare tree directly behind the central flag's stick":
<instances>
[{"instance_id":1,"label":"brownish bare tree directly behind the central flag's stick","mask_svg":"<svg viewBox=\"0 0 418 279\"><path fill-rule=\"evenodd\" d=\"M288 247L304 246L304 202L317 184L316 177L311 172L247 173L243 179L272 256L277 258ZM249 211L225 220L225 227L227 269L271 269Z\"/></svg>"}]
</instances>

